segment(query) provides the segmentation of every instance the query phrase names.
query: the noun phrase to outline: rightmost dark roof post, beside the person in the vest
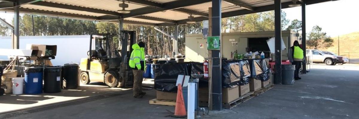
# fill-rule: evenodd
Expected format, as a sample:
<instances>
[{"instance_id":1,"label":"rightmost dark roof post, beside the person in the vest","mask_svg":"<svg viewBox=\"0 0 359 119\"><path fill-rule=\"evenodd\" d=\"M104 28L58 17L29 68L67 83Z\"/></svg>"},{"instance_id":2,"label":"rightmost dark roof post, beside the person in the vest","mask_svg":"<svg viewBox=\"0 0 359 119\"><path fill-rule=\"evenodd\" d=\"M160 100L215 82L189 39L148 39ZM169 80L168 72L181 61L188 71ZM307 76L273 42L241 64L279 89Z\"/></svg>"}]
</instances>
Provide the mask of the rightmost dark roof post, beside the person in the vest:
<instances>
[{"instance_id":1,"label":"rightmost dark roof post, beside the person in the vest","mask_svg":"<svg viewBox=\"0 0 359 119\"><path fill-rule=\"evenodd\" d=\"M306 0L302 1L302 46L303 46L303 55L307 55L307 40L306 40ZM304 58L302 63L302 74L307 74L307 59Z\"/></svg>"}]
</instances>

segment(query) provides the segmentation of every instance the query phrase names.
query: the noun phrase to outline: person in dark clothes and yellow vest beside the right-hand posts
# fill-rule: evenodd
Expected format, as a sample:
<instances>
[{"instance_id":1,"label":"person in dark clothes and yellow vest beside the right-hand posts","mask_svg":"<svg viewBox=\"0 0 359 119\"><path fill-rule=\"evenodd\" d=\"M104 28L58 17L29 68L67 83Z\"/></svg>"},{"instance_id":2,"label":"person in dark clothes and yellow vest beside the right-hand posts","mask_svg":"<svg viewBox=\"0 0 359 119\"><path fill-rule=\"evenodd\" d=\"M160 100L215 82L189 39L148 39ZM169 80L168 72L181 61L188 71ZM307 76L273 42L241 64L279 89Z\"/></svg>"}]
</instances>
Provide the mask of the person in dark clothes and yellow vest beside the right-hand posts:
<instances>
[{"instance_id":1,"label":"person in dark clothes and yellow vest beside the right-hand posts","mask_svg":"<svg viewBox=\"0 0 359 119\"><path fill-rule=\"evenodd\" d=\"M303 49L299 46L299 42L296 40L293 43L293 46L289 48L288 59L295 65L294 79L302 79L299 77L299 69L302 67L302 61L304 58Z\"/></svg>"}]
</instances>

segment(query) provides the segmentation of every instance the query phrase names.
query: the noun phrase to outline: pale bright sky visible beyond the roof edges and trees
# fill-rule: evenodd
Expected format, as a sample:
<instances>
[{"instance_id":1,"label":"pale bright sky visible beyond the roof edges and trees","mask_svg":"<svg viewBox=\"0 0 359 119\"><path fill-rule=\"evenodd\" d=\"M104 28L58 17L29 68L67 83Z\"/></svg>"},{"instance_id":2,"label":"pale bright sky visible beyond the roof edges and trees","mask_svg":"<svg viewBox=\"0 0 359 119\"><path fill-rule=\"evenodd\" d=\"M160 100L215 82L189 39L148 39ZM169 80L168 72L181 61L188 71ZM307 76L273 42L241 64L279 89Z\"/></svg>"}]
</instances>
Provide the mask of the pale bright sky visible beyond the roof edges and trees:
<instances>
[{"instance_id":1,"label":"pale bright sky visible beyond the roof edges and trees","mask_svg":"<svg viewBox=\"0 0 359 119\"><path fill-rule=\"evenodd\" d=\"M314 25L322 27L330 36L359 32L359 0L337 0L307 5L307 32ZM301 7L283 9L289 20L302 20ZM0 17L11 23L13 14L0 11Z\"/></svg>"}]
</instances>

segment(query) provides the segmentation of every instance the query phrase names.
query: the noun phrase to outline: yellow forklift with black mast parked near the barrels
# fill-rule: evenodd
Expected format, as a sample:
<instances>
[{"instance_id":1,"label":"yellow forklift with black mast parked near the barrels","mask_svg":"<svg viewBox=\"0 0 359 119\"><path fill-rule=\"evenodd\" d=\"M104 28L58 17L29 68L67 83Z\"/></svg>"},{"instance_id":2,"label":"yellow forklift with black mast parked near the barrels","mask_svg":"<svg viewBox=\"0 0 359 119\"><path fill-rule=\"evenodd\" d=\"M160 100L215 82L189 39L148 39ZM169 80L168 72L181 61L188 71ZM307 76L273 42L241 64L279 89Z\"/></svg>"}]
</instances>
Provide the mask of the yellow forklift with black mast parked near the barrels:
<instances>
[{"instance_id":1,"label":"yellow forklift with black mast parked near the barrels","mask_svg":"<svg viewBox=\"0 0 359 119\"><path fill-rule=\"evenodd\" d=\"M103 82L109 87L132 87L133 73L129 68L131 46L136 41L134 31L122 31L118 34L90 35L88 58L80 62L80 81ZM121 53L121 55L120 55Z\"/></svg>"}]
</instances>

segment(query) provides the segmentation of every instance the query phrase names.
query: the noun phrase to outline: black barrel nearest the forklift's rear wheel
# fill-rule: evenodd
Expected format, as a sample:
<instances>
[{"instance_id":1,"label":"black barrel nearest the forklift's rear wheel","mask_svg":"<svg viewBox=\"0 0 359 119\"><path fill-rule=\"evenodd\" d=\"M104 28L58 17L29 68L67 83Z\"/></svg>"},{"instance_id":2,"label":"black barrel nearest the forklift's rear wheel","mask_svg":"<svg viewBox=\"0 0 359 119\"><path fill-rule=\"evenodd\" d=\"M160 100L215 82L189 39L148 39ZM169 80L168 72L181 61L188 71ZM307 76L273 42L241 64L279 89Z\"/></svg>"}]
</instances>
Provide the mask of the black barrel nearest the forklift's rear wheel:
<instances>
[{"instance_id":1,"label":"black barrel nearest the forklift's rear wheel","mask_svg":"<svg viewBox=\"0 0 359 119\"><path fill-rule=\"evenodd\" d=\"M62 88L77 89L79 87L79 65L65 64L62 67Z\"/></svg>"}]
</instances>

